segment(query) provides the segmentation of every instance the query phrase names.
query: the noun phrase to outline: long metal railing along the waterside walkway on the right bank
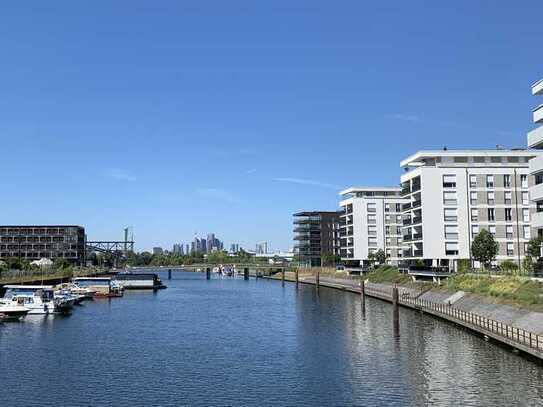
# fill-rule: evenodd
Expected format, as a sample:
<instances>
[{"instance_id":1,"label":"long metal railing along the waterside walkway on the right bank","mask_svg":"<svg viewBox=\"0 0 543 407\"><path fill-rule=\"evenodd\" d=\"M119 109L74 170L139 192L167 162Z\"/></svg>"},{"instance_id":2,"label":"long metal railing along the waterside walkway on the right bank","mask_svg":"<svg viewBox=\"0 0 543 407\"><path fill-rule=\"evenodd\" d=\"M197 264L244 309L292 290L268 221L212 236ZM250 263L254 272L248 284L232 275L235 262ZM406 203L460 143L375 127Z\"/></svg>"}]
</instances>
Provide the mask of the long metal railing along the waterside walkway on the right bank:
<instances>
[{"instance_id":1,"label":"long metal railing along the waterside walkway on the right bank","mask_svg":"<svg viewBox=\"0 0 543 407\"><path fill-rule=\"evenodd\" d=\"M366 286L364 291L369 295L384 297L392 301L392 288L375 288ZM462 325L477 327L483 333L492 333L509 341L516 342L517 344L535 349L538 352L543 352L543 336L526 331L525 329L517 328L501 321L486 318L472 312L463 311L448 304L441 304L412 297L408 292L402 291L401 289L398 302L400 304L411 305L416 309L430 310L435 314L441 314L462 322Z\"/></svg>"}]
</instances>

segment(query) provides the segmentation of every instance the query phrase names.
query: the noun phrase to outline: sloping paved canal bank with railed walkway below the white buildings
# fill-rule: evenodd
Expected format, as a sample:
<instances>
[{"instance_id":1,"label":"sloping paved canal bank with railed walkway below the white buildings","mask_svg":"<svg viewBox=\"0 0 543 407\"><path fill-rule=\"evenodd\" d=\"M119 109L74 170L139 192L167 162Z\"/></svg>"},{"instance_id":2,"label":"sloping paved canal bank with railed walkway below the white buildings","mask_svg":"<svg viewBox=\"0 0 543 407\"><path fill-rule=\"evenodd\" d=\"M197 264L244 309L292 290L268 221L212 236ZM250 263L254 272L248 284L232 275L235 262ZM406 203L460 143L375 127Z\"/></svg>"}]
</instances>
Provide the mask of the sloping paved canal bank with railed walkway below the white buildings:
<instances>
[{"instance_id":1,"label":"sloping paved canal bank with railed walkway below the white buildings","mask_svg":"<svg viewBox=\"0 0 543 407\"><path fill-rule=\"evenodd\" d=\"M273 276L270 279L296 283L296 274ZM298 277L300 284L334 288L360 294L358 279L342 279L316 275ZM393 287L386 284L365 283L365 295L393 303ZM398 287L398 305L432 315L460 325L485 339L521 351L543 362L543 314L496 304L466 293L446 294L433 290L421 291ZM480 313L476 311L482 311ZM491 316L495 316L492 318ZM516 321L513 325L510 321ZM531 326L532 330L523 326ZM534 329L535 327L535 329Z\"/></svg>"}]
</instances>

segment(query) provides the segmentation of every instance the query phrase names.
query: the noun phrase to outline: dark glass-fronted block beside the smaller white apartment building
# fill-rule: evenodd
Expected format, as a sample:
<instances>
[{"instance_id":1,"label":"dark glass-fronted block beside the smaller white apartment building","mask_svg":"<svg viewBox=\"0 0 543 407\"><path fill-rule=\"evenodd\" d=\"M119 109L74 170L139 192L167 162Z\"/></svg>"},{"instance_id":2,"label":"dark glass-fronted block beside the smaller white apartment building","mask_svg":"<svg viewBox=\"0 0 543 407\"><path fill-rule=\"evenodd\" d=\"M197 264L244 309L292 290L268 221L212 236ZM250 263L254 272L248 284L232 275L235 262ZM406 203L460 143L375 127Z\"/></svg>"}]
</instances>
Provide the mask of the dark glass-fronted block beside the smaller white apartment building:
<instances>
[{"instance_id":1,"label":"dark glass-fronted block beside the smaller white apartment building","mask_svg":"<svg viewBox=\"0 0 543 407\"><path fill-rule=\"evenodd\" d=\"M293 216L294 260L298 264L318 267L322 264L322 256L337 254L339 212L298 212Z\"/></svg>"}]
</instances>

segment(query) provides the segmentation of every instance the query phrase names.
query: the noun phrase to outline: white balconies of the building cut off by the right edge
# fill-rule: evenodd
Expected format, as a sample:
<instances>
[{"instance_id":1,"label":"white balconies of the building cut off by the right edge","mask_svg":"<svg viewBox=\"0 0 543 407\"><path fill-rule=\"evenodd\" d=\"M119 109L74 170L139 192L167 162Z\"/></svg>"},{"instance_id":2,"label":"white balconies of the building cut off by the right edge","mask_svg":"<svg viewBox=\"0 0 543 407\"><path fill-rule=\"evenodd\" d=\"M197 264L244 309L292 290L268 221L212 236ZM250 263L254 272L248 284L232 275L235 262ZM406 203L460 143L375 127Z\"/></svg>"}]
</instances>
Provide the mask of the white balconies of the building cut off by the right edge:
<instances>
[{"instance_id":1,"label":"white balconies of the building cut off by the right edge","mask_svg":"<svg viewBox=\"0 0 543 407\"><path fill-rule=\"evenodd\" d=\"M543 96L543 79L532 85L534 96ZM543 102L543 97L541 98ZM534 109L533 121L539 127L528 133L528 147L543 149L543 103ZM536 213L532 227L538 236L543 236L543 156L530 160L530 174L534 177L534 186L530 188L530 198L535 203Z\"/></svg>"}]
</instances>

